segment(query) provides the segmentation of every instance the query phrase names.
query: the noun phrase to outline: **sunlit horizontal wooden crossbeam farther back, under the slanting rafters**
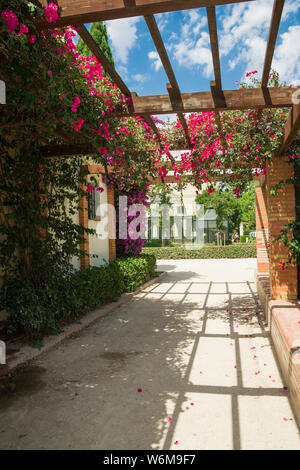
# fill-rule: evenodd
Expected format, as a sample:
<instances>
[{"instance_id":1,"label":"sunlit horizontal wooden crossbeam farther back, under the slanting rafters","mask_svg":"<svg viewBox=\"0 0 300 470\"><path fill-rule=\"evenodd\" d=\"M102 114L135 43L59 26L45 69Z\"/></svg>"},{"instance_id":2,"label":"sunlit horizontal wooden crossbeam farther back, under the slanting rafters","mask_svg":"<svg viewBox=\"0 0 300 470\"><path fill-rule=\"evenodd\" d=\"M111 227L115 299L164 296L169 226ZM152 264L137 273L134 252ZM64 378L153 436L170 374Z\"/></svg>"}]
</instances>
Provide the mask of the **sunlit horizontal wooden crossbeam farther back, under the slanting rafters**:
<instances>
[{"instance_id":1,"label":"sunlit horizontal wooden crossbeam farther back, under the slanting rafters","mask_svg":"<svg viewBox=\"0 0 300 470\"><path fill-rule=\"evenodd\" d=\"M215 110L243 110L259 108L291 107L292 94L300 87L274 87L268 88L269 100L266 100L264 90L261 88L248 88L239 90L223 90L224 104L216 105L214 97L209 91L182 93L184 113L215 111ZM169 95L133 96L133 111L124 115L141 114L172 114L173 109ZM178 110L177 110L178 112Z\"/></svg>"}]
</instances>

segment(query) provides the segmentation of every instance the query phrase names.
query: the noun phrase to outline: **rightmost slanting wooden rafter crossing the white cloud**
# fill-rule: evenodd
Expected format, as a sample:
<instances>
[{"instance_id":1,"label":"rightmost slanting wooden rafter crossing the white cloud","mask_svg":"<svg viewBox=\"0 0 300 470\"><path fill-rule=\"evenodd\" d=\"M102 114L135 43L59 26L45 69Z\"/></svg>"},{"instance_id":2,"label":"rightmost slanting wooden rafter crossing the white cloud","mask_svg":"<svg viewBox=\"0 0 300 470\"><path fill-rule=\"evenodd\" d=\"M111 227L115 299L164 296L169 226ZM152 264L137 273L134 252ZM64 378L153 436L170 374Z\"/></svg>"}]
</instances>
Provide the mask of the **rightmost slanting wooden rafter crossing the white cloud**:
<instances>
[{"instance_id":1,"label":"rightmost slanting wooden rafter crossing the white cloud","mask_svg":"<svg viewBox=\"0 0 300 470\"><path fill-rule=\"evenodd\" d=\"M268 38L268 43L267 43L266 55L265 55L264 69L263 69L263 74L262 74L262 79L261 79L262 87L268 86L272 59L273 59L274 49L276 45L276 39L277 39L278 30L279 30L283 7L284 7L284 0L274 0L269 38Z\"/></svg>"}]
</instances>

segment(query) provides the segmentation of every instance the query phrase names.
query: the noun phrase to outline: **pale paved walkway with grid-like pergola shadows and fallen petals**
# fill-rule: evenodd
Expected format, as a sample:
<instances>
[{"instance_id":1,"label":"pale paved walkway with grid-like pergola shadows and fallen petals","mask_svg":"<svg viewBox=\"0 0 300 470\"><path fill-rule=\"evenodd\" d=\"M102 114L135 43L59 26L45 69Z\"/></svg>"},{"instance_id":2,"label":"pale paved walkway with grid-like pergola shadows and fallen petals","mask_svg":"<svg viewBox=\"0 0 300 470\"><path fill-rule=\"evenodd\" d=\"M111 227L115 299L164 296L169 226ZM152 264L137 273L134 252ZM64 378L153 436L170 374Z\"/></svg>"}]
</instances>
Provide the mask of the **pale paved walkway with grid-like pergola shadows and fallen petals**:
<instances>
[{"instance_id":1,"label":"pale paved walkway with grid-like pergola shadows and fallen petals","mask_svg":"<svg viewBox=\"0 0 300 470\"><path fill-rule=\"evenodd\" d=\"M0 448L300 449L255 262L159 261L160 284L15 377Z\"/></svg>"}]
</instances>

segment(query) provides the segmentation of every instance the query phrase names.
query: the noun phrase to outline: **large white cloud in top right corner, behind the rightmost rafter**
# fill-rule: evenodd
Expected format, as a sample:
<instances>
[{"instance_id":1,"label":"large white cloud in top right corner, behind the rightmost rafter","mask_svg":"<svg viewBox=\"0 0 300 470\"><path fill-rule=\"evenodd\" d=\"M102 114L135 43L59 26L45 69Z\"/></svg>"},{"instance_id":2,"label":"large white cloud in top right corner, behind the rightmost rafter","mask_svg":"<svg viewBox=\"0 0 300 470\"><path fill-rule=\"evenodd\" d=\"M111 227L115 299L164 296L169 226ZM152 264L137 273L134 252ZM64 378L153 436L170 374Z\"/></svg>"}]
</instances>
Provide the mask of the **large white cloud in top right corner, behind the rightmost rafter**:
<instances>
[{"instance_id":1,"label":"large white cloud in top right corner, behind the rightmost rafter","mask_svg":"<svg viewBox=\"0 0 300 470\"><path fill-rule=\"evenodd\" d=\"M249 4L234 5L223 18L219 32L220 55L228 56L228 66L245 66L244 72L258 69L262 72L267 38L272 16L273 0L256 0ZM299 0L287 0L282 13L282 23L293 20L300 9ZM278 36L272 68L280 78L296 82L300 71L300 27L290 26ZM258 77L259 78L259 77Z\"/></svg>"}]
</instances>

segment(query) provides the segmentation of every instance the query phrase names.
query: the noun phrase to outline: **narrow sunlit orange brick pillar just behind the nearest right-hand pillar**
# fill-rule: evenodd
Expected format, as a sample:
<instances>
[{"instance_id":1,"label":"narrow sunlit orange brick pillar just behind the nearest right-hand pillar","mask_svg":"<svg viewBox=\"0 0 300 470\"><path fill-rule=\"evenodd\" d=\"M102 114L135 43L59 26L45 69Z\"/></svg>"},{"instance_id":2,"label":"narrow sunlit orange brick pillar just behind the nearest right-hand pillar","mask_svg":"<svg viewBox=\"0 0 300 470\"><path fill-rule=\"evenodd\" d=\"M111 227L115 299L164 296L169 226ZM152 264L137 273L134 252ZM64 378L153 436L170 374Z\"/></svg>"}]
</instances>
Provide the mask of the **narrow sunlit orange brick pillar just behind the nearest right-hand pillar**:
<instances>
[{"instance_id":1,"label":"narrow sunlit orange brick pillar just behind the nearest right-hand pillar","mask_svg":"<svg viewBox=\"0 0 300 470\"><path fill-rule=\"evenodd\" d=\"M257 273L269 273L269 219L266 186L255 190Z\"/></svg>"}]
</instances>

